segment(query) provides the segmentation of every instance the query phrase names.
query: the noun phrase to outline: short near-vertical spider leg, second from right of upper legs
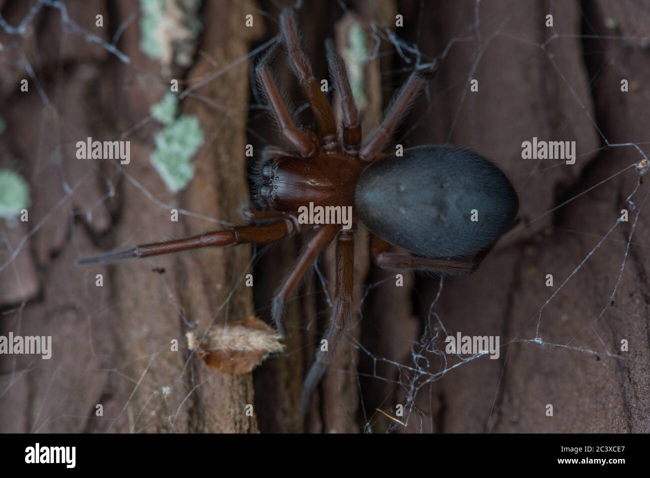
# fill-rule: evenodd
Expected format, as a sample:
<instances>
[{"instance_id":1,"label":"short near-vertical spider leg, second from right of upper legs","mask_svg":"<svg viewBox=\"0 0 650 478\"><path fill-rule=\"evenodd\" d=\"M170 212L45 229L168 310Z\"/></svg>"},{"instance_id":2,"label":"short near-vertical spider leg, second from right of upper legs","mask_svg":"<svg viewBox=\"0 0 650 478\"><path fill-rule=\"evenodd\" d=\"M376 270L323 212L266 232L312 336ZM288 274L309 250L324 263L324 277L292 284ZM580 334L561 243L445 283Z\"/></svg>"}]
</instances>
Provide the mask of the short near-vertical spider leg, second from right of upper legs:
<instances>
[{"instance_id":1,"label":"short near-vertical spider leg, second from right of upper legs","mask_svg":"<svg viewBox=\"0 0 650 478\"><path fill-rule=\"evenodd\" d=\"M359 110L354 103L348 70L340 55L332 54L328 61L330 75L338 92L339 105L341 105L343 149L350 155L357 155L359 145L361 145L361 122L359 121Z\"/></svg>"}]
</instances>

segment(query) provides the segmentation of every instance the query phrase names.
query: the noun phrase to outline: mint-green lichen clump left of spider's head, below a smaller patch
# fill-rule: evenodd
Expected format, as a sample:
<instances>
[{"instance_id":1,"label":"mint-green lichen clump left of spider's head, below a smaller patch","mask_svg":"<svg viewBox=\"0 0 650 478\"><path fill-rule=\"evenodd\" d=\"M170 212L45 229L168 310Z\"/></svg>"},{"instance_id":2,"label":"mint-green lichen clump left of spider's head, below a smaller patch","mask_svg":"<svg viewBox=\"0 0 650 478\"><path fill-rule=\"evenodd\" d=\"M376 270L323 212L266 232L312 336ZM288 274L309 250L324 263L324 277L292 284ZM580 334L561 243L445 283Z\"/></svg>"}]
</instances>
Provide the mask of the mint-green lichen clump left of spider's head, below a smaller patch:
<instances>
[{"instance_id":1,"label":"mint-green lichen clump left of spider's head, below a smaller patch","mask_svg":"<svg viewBox=\"0 0 650 478\"><path fill-rule=\"evenodd\" d=\"M155 134L156 149L149 161L167 189L177 192L194 177L191 162L203 144L203 129L196 116L181 115Z\"/></svg>"}]
</instances>

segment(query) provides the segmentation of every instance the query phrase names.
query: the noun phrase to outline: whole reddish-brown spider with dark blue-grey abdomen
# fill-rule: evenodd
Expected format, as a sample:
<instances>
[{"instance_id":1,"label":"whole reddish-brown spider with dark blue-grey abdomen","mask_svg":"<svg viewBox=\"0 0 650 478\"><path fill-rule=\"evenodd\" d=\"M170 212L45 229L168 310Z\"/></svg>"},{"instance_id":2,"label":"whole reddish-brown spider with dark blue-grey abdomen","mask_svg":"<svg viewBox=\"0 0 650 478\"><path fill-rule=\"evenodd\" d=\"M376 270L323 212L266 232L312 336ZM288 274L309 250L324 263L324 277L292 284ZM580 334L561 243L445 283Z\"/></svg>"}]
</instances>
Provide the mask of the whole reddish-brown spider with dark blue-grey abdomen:
<instances>
[{"instance_id":1,"label":"whole reddish-brown spider with dark blue-grey abdomen","mask_svg":"<svg viewBox=\"0 0 650 478\"><path fill-rule=\"evenodd\" d=\"M512 227L519 201L504 173L473 151L454 145L424 145L405 149L400 157L386 153L389 138L435 71L437 62L431 68L411 73L393 97L380 125L362 142L359 112L343 58L335 53L328 55L341 111L341 124L337 125L302 49L292 9L283 10L279 25L281 44L274 44L259 61L255 74L287 147L263 149L252 178L255 202L261 208L244 211L248 225L136 245L83 258L77 263L111 264L202 247L276 242L300 231L300 207L309 203L352 207L350 229L331 223L313 227L311 238L274 297L272 318L278 331L285 334L285 303L320 251L335 242L335 297L330 325L324 334L328 351L317 350L305 377L301 400L305 413L309 397L350 320L357 221L369 229L370 252L382 268L441 275L472 273L500 236ZM313 111L318 134L296 128L278 93L272 62L282 46ZM406 251L393 251L391 245Z\"/></svg>"}]
</instances>

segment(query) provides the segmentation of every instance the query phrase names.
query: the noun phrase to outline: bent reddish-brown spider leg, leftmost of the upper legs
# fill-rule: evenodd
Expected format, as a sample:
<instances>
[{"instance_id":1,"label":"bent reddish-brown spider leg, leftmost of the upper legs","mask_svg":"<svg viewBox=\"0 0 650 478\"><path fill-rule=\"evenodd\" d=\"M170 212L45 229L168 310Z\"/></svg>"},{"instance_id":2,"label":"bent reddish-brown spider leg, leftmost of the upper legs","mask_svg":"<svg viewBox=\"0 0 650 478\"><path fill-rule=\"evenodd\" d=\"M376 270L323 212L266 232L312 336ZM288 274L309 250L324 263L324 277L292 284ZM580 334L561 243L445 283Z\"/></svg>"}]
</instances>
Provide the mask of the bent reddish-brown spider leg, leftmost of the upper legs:
<instances>
[{"instance_id":1,"label":"bent reddish-brown spider leg, leftmost of the upper legs","mask_svg":"<svg viewBox=\"0 0 650 478\"><path fill-rule=\"evenodd\" d=\"M259 81L266 101L273 110L273 115L278 121L278 127L285 140L304 158L313 156L316 151L316 145L311 142L304 133L298 131L294 125L287 107L285 107L282 98L278 92L278 87L273 77L273 70L270 66L277 53L278 45L274 45L259 64L255 67L255 75Z\"/></svg>"}]
</instances>

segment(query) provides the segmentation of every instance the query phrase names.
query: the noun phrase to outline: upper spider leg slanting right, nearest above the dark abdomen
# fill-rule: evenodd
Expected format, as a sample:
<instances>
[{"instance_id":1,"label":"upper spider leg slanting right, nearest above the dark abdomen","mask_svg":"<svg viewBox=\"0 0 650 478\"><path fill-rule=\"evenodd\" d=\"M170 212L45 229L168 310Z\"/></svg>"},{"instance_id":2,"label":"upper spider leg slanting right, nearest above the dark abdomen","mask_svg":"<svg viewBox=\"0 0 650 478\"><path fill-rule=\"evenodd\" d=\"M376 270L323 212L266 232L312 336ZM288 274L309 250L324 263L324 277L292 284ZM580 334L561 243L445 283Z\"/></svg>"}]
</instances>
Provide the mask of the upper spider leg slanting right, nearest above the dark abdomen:
<instances>
[{"instance_id":1,"label":"upper spider leg slanting right, nearest above the dark abdomen","mask_svg":"<svg viewBox=\"0 0 650 478\"><path fill-rule=\"evenodd\" d=\"M424 84L437 68L437 64L427 69L417 69L411 73L404 86L393 95L382 123L370 134L369 138L361 146L359 160L361 162L372 162L375 157L383 151L388 139L393 136L395 129L408 111L413 100L422 90Z\"/></svg>"}]
</instances>

